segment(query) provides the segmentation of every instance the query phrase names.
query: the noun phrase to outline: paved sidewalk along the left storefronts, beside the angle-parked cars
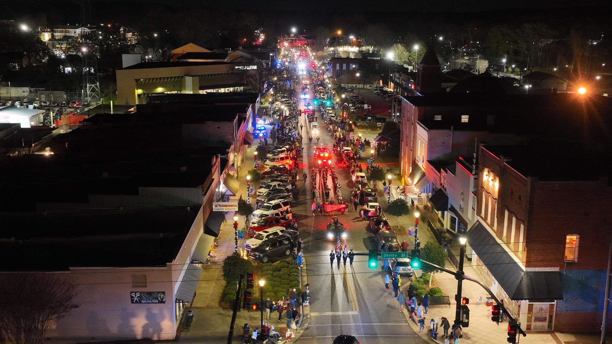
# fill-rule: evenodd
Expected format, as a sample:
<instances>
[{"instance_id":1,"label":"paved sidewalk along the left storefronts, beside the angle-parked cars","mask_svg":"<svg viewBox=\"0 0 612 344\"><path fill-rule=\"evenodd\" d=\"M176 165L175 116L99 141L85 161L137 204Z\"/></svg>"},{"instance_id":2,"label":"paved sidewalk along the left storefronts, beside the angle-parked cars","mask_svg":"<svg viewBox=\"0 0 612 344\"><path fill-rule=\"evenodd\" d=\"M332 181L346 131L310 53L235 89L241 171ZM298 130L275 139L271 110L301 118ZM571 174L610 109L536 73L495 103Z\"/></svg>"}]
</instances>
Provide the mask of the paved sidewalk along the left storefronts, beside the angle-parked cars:
<instances>
[{"instance_id":1,"label":"paved sidewalk along the left storefronts, beside the angle-parked cars","mask_svg":"<svg viewBox=\"0 0 612 344\"><path fill-rule=\"evenodd\" d=\"M242 198L246 198L247 195L247 172L252 170L255 166L253 161L253 152L255 151L255 147L248 148L245 154L245 160L242 163L238 173L237 179L240 181L239 190L237 193L236 199L242 195ZM258 189L258 182L251 183L251 187ZM253 204L253 208L255 208L255 195L251 195L251 204ZM193 300L191 307L186 307L187 309L193 310L193 323L188 331L182 331L179 333L178 337L182 343L211 343L211 344L225 344L227 343L228 333L230 331L230 323L232 317L231 309L222 309L219 307L218 303L221 299L223 288L225 288L225 280L223 280L223 259L231 255L234 252L234 230L232 227L233 220L233 212L228 212L225 215L226 223L223 226L223 230L220 233L218 246L214 247L215 251L215 261L212 261L211 264L203 267L202 275L200 277L200 283L198 283L198 287L196 288L196 296ZM239 216L238 219L238 228L245 228L245 218L243 216ZM245 239L248 239L245 237ZM245 239L238 241L238 247L244 247ZM304 266L306 264L304 263ZM302 268L300 272L300 278L302 285L307 282L307 274L306 267ZM253 295L253 300L255 302L259 302L259 295ZM310 321L310 310L308 307L302 307L300 310L302 313L302 323L300 324L300 328L296 331L296 336L292 338L292 340L297 340L302 333L304 333L304 329L308 326ZM281 316L281 320L278 320L278 313L270 313L270 318L265 318L264 312L264 321L268 321L271 326L274 326L274 330L279 332L282 336L285 335L286 329L286 318L285 313L283 312ZM259 310L252 310L251 308L244 309L241 308L236 316L236 325L234 327L234 343L242 343L242 326L245 323L248 323L251 329L255 329L259 326L259 322L261 321L261 312ZM282 339L280 343L283 343L285 340Z\"/></svg>"}]
</instances>

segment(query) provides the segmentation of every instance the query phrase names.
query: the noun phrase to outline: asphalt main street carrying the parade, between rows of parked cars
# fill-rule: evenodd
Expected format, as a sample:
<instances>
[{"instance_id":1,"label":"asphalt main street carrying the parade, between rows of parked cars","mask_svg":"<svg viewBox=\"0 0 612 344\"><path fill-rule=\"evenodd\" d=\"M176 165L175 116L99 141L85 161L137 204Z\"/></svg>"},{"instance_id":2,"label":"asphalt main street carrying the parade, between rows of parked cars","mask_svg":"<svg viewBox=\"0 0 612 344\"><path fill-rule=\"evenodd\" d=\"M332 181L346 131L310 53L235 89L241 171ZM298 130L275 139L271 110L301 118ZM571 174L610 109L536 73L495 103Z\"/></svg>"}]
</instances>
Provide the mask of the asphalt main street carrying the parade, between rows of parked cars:
<instances>
[{"instance_id":1,"label":"asphalt main street carrying the parade, between rows of parked cars","mask_svg":"<svg viewBox=\"0 0 612 344\"><path fill-rule=\"evenodd\" d=\"M312 99L312 94L309 98ZM385 102L381 98L379 100ZM300 100L299 108L304 108L304 100ZM395 340L409 344L425 343L409 327L404 314L399 312L393 291L384 289L385 274L382 269L367 267L367 256L356 256L352 267L348 260L346 267L343 263L338 267L335 261L330 265L329 253L335 250L336 245L326 237L326 225L331 217L325 213L313 216L310 209L310 168L314 164L313 146L316 141L308 143L310 125L304 115L299 117L299 121L304 124L302 136L305 138L302 168L307 171L309 179L304 192L300 193L301 200L294 204L292 210L300 220L311 298L310 323L297 342L329 344L337 335L349 334L362 343L389 343ZM323 143L331 149L332 140L326 131L326 124L321 118L318 124L321 136L319 144ZM362 163L365 163L365 159L362 159ZM343 185L342 195L348 198L352 189L349 172L339 165L336 165L336 172ZM356 212L338 215L338 219L348 228L348 249L367 253L373 245L373 234L365 230L366 222ZM379 266L382 266L382 261Z\"/></svg>"}]
</instances>

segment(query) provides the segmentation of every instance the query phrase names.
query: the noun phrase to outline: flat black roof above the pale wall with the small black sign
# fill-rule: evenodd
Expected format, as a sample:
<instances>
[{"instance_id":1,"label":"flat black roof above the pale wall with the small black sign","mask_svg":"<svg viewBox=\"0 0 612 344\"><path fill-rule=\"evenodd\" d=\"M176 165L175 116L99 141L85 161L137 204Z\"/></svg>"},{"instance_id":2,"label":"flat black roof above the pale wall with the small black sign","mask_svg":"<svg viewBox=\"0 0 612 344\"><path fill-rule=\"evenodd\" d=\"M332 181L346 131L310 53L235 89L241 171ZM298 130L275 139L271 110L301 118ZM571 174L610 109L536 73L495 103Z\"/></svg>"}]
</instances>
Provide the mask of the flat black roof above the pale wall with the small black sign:
<instances>
[{"instance_id":1,"label":"flat black roof above the pale wall with the small black sign","mask_svg":"<svg viewBox=\"0 0 612 344\"><path fill-rule=\"evenodd\" d=\"M165 266L181 249L200 204L137 210L3 215L1 271Z\"/></svg>"}]
</instances>

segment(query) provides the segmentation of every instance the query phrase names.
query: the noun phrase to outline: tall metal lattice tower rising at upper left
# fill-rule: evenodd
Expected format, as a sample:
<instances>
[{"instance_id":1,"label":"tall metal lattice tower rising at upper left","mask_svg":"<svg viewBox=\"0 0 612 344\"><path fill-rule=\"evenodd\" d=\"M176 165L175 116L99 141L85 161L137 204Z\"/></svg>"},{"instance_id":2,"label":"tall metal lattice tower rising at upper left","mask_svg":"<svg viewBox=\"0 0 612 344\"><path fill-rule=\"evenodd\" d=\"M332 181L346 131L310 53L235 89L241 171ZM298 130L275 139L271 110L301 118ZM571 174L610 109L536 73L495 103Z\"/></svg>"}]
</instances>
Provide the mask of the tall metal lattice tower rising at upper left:
<instances>
[{"instance_id":1,"label":"tall metal lattice tower rising at upper left","mask_svg":"<svg viewBox=\"0 0 612 344\"><path fill-rule=\"evenodd\" d=\"M86 28L91 26L91 2L89 0L81 0L81 27ZM87 32L81 32L81 42L87 39ZM98 79L98 62L95 59L95 54L88 50L87 47L81 48L83 53L83 102L89 102L90 105L100 102L100 81Z\"/></svg>"}]
</instances>

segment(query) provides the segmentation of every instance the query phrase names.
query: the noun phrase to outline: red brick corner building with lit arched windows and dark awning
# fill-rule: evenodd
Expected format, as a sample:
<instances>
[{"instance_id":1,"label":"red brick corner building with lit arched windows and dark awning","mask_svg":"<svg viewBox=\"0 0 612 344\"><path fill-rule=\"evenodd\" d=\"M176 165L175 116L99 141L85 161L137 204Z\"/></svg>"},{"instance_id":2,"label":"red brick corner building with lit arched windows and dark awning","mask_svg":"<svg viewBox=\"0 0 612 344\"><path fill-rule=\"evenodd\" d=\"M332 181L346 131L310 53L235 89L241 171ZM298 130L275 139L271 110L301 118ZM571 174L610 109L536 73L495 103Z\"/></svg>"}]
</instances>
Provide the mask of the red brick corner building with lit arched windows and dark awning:
<instances>
[{"instance_id":1,"label":"red brick corner building with lit arched windows and dark awning","mask_svg":"<svg viewBox=\"0 0 612 344\"><path fill-rule=\"evenodd\" d=\"M579 169L557 164L584 157L575 148L479 151L477 221L468 230L472 264L528 331L601 326L612 187L597 160L585 159Z\"/></svg>"}]
</instances>

